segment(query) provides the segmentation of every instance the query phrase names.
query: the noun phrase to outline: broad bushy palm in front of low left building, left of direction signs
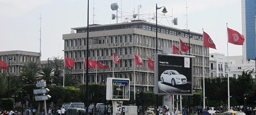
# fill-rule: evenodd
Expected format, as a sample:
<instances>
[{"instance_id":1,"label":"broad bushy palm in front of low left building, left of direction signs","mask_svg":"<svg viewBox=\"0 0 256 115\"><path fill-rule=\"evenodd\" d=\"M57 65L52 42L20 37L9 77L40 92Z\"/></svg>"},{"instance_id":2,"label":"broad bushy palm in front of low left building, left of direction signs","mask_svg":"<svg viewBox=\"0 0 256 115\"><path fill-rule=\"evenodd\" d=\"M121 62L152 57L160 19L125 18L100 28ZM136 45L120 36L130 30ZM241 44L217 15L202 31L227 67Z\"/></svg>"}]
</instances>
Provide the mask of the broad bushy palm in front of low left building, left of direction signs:
<instances>
[{"instance_id":1,"label":"broad bushy palm in front of low left building, left of direction signs","mask_svg":"<svg viewBox=\"0 0 256 115\"><path fill-rule=\"evenodd\" d=\"M25 84L36 84L36 82L41 80L41 77L38 74L40 72L40 67L36 62L27 62L21 71L22 73L20 73L20 76L22 82Z\"/></svg>"}]
</instances>

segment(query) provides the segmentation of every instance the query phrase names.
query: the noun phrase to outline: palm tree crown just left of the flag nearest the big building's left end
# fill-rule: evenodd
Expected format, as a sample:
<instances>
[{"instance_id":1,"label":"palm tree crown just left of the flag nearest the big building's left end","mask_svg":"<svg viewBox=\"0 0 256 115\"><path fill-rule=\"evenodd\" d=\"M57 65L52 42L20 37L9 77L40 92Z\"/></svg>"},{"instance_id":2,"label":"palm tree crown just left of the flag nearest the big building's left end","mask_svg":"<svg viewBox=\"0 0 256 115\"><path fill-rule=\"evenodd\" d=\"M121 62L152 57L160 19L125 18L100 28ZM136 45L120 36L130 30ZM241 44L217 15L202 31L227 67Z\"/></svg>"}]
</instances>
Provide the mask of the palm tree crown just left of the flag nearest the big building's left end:
<instances>
[{"instance_id":1,"label":"palm tree crown just left of the flag nearest the big building's left end","mask_svg":"<svg viewBox=\"0 0 256 115\"><path fill-rule=\"evenodd\" d=\"M53 57L53 60L50 60L50 66L54 70L54 76L61 77L61 74L63 74L63 59L59 59L59 57Z\"/></svg>"}]
</instances>

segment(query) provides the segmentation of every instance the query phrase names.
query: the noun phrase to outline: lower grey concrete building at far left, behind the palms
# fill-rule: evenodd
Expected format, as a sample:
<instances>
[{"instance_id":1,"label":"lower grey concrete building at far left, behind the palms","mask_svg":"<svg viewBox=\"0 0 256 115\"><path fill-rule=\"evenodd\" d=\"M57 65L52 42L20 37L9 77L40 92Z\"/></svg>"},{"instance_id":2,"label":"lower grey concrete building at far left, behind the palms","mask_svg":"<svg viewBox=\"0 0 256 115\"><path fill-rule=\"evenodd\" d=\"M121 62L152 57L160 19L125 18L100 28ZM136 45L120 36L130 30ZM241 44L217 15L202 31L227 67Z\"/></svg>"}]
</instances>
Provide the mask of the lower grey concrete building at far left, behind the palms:
<instances>
[{"instance_id":1,"label":"lower grey concrete building at far left, behind the palms","mask_svg":"<svg viewBox=\"0 0 256 115\"><path fill-rule=\"evenodd\" d=\"M8 65L9 73L11 75L19 76L26 62L34 61L39 63L40 53L30 52L30 51L18 51L18 50L17 51L1 51L0 60L2 60L5 64ZM0 73L8 73L8 70L0 69Z\"/></svg>"}]
</instances>

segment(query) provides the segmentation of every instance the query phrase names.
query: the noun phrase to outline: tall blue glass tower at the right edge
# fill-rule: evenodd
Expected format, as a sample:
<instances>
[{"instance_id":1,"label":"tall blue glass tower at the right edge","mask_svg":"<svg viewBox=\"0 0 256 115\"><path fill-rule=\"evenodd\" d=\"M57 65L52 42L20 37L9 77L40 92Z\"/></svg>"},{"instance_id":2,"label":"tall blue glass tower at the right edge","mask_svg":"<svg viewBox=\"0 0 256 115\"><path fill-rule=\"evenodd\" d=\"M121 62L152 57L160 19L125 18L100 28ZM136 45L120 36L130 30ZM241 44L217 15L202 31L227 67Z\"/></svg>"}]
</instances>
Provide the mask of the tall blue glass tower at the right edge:
<instances>
[{"instance_id":1,"label":"tall blue glass tower at the right edge","mask_svg":"<svg viewBox=\"0 0 256 115\"><path fill-rule=\"evenodd\" d=\"M242 33L245 36L243 44L243 60L256 57L256 36L255 19L256 2L255 0L242 0Z\"/></svg>"}]
</instances>

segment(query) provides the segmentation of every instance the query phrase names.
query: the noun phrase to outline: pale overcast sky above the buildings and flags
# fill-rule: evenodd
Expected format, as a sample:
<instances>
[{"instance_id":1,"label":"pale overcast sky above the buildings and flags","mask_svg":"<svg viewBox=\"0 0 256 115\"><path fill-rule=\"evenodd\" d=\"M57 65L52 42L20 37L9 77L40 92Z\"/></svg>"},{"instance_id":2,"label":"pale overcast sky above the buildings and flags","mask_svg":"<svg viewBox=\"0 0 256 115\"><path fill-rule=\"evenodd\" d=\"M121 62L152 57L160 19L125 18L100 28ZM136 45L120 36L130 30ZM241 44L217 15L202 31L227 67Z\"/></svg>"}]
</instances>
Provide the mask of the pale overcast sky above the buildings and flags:
<instances>
[{"instance_id":1,"label":"pale overcast sky above the buildings and flags","mask_svg":"<svg viewBox=\"0 0 256 115\"><path fill-rule=\"evenodd\" d=\"M210 53L227 55L227 26L242 34L241 0L95 0L94 5L93 0L89 2L90 24L116 23L110 20L111 14L116 13L110 9L110 4L115 2L119 11L135 11L135 14L140 4L140 14L155 13L156 4L165 6L166 15L173 12L173 18L178 18L178 25L173 27L188 27L198 33L204 29L210 35L217 48L210 49ZM41 60L63 57L62 35L70 33L71 28L87 26L87 8L87 0L0 0L0 51L39 53L41 30ZM159 9L158 13L161 11ZM169 26L164 19L163 24ZM242 55L242 46L229 43L231 55Z\"/></svg>"}]
</instances>

